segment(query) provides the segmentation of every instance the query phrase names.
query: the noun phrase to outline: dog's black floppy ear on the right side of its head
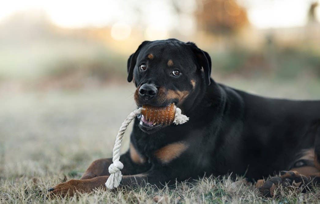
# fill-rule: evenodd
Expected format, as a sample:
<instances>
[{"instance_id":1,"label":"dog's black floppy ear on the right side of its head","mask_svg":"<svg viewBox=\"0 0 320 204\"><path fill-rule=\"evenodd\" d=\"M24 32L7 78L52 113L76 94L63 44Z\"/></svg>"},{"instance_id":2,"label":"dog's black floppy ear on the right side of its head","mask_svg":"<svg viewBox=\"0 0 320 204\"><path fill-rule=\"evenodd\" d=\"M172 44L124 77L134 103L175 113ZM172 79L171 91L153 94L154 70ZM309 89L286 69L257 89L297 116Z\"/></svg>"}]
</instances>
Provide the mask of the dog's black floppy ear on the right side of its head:
<instances>
[{"instance_id":1,"label":"dog's black floppy ear on the right side of its head","mask_svg":"<svg viewBox=\"0 0 320 204\"><path fill-rule=\"evenodd\" d=\"M198 48L195 43L187 42L191 46L192 51L196 56L196 60L199 65L203 68L205 81L207 85L210 85L210 75L211 75L211 58L209 54L202 49Z\"/></svg>"}]
</instances>

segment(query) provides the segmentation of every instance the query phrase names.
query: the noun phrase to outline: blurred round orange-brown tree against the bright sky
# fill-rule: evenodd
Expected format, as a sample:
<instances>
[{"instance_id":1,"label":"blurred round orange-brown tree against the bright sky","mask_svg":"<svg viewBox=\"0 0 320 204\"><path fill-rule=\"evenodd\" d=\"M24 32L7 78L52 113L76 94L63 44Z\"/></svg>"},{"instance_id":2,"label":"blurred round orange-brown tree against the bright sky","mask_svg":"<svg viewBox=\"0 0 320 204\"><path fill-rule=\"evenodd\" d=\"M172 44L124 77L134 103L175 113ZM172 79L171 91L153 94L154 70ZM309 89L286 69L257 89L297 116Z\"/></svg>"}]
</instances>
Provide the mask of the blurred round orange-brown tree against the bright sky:
<instances>
[{"instance_id":1,"label":"blurred round orange-brown tree against the bright sky","mask_svg":"<svg viewBox=\"0 0 320 204\"><path fill-rule=\"evenodd\" d=\"M201 0L196 12L201 30L214 34L233 33L248 24L246 10L236 0Z\"/></svg>"}]
</instances>

